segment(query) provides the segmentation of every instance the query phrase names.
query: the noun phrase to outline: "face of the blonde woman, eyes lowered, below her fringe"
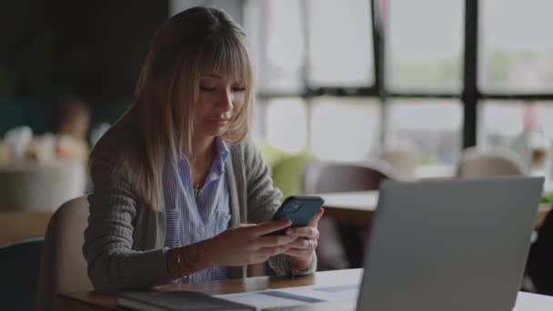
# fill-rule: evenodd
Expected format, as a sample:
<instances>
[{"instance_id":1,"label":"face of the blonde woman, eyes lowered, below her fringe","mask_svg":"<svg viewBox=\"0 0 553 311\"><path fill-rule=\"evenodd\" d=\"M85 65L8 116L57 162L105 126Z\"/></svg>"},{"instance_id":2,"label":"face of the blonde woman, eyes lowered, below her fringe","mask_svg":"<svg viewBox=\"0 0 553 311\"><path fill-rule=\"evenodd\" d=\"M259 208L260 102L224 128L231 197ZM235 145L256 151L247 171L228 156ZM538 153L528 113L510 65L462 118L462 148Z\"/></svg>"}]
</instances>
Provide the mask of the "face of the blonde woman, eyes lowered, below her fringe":
<instances>
[{"instance_id":1,"label":"face of the blonde woman, eyes lowered, below her fringe","mask_svg":"<svg viewBox=\"0 0 553 311\"><path fill-rule=\"evenodd\" d=\"M247 85L226 75L206 73L200 76L194 120L195 134L220 136L244 105Z\"/></svg>"}]
</instances>

